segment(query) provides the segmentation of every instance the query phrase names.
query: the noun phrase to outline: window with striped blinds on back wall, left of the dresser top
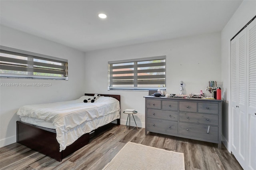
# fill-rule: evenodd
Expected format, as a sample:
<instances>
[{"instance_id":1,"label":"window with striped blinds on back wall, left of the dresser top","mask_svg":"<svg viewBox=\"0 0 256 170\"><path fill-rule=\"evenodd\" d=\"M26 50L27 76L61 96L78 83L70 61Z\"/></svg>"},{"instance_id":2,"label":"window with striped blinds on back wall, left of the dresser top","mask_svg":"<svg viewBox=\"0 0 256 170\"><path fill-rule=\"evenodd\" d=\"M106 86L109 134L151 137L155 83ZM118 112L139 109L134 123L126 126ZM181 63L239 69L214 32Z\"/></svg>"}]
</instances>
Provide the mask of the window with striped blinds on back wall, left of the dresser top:
<instances>
[{"instance_id":1,"label":"window with striped blinds on back wall, left of the dresser top","mask_svg":"<svg viewBox=\"0 0 256 170\"><path fill-rule=\"evenodd\" d=\"M165 87L165 55L108 62L108 89L155 90Z\"/></svg>"}]
</instances>

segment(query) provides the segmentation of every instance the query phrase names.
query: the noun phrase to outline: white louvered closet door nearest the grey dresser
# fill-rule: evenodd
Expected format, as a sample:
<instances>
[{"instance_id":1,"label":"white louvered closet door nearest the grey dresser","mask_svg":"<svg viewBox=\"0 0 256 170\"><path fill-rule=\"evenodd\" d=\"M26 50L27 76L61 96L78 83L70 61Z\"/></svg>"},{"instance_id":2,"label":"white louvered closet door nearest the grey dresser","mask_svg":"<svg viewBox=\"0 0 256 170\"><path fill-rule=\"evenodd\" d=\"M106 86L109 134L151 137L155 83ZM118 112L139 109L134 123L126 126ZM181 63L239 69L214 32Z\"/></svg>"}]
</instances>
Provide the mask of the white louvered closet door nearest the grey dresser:
<instances>
[{"instance_id":1,"label":"white louvered closet door nearest the grey dresser","mask_svg":"<svg viewBox=\"0 0 256 170\"><path fill-rule=\"evenodd\" d=\"M233 42L234 41L234 42ZM231 41L232 152L246 166L246 29Z\"/></svg>"}]
</instances>

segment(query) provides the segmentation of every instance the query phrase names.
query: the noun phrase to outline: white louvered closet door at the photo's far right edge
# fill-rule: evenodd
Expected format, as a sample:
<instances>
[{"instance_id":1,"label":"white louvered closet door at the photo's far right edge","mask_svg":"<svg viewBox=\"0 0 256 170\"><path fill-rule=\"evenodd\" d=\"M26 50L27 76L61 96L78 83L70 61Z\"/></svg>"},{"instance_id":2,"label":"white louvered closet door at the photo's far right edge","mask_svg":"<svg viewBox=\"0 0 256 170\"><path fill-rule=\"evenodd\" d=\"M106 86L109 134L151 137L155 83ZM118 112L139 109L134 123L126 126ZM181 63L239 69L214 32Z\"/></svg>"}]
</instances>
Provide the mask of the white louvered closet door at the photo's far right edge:
<instances>
[{"instance_id":1,"label":"white louvered closet door at the photo's far right edge","mask_svg":"<svg viewBox=\"0 0 256 170\"><path fill-rule=\"evenodd\" d=\"M256 170L256 19L247 26L248 169Z\"/></svg>"}]
</instances>

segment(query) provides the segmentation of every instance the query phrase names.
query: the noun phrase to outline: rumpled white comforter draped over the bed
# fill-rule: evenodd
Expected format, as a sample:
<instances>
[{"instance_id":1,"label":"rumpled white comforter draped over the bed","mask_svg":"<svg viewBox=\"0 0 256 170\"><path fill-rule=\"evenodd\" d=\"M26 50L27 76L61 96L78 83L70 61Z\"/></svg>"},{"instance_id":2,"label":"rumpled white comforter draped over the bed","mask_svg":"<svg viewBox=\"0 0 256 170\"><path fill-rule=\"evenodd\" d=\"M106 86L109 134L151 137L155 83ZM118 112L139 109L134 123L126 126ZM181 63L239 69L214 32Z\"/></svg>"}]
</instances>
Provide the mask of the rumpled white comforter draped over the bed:
<instances>
[{"instance_id":1,"label":"rumpled white comforter draped over the bed","mask_svg":"<svg viewBox=\"0 0 256 170\"><path fill-rule=\"evenodd\" d=\"M93 97L91 97L93 98ZM20 117L33 117L52 122L60 152L80 136L120 118L119 101L112 97L99 97L94 103L84 103L83 96L74 101L27 105L20 107Z\"/></svg>"}]
</instances>

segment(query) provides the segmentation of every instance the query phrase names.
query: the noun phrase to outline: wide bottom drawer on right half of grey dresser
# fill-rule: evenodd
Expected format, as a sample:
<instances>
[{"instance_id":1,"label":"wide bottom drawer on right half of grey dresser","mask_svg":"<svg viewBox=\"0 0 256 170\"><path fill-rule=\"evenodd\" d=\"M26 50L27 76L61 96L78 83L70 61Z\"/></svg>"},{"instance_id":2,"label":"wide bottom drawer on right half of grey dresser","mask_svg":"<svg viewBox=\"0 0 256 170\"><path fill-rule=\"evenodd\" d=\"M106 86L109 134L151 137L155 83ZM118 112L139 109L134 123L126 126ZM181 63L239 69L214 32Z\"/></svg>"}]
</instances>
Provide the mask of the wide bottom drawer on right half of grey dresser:
<instances>
[{"instance_id":1,"label":"wide bottom drawer on right half of grey dresser","mask_svg":"<svg viewBox=\"0 0 256 170\"><path fill-rule=\"evenodd\" d=\"M196 125L190 123L179 123L179 134L184 136L191 136L196 138L216 140L218 141L218 127L209 128L209 133L207 125Z\"/></svg>"}]
</instances>

